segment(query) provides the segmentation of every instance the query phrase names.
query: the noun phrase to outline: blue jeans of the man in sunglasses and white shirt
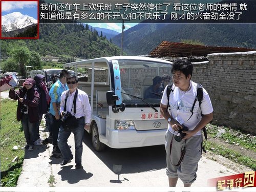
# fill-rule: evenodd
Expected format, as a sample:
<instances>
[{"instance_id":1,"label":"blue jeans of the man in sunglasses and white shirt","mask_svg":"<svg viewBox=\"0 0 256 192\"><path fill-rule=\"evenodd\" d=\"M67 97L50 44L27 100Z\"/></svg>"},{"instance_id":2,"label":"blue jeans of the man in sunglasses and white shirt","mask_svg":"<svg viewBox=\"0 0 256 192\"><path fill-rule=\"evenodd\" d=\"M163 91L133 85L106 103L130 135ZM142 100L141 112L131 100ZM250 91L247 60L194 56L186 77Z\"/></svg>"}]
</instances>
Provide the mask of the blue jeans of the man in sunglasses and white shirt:
<instances>
[{"instance_id":1,"label":"blue jeans of the man in sunglasses and white shirt","mask_svg":"<svg viewBox=\"0 0 256 192\"><path fill-rule=\"evenodd\" d=\"M64 160L70 160L73 158L72 152L68 145L68 138L71 133L75 136L75 163L82 163L82 139L83 139L83 127L84 117L77 119L78 126L72 131L65 131L62 126L59 129L58 147Z\"/></svg>"}]
</instances>

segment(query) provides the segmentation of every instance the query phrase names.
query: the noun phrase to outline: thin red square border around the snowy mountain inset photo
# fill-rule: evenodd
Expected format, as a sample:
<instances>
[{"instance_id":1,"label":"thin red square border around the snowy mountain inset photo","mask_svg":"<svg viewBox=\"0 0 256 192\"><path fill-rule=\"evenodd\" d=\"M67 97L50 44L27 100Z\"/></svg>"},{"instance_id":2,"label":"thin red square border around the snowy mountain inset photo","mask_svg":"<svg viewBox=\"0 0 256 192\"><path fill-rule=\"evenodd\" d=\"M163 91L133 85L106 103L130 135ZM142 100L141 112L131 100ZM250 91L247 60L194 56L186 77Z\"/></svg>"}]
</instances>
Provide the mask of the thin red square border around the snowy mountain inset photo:
<instances>
[{"instance_id":1,"label":"thin red square border around the snowy mountain inset photo","mask_svg":"<svg viewBox=\"0 0 256 192\"><path fill-rule=\"evenodd\" d=\"M37 2L37 36L36 37L2 37L2 2ZM0 39L39 39L39 0L0 0Z\"/></svg>"}]
</instances>

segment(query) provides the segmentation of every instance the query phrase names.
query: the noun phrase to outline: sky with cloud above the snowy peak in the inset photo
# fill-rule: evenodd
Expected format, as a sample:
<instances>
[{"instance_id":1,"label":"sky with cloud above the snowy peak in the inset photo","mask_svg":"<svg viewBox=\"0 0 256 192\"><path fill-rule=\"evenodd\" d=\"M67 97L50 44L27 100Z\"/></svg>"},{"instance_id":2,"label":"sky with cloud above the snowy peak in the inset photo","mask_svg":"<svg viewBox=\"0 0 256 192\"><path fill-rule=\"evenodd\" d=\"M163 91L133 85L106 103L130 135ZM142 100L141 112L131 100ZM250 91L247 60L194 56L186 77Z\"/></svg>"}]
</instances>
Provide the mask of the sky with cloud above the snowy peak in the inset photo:
<instances>
[{"instance_id":1,"label":"sky with cloud above the snowy peak in the inset photo","mask_svg":"<svg viewBox=\"0 0 256 192\"><path fill-rule=\"evenodd\" d=\"M23 15L29 15L37 19L37 2L24 2L24 1L15 1L15 2L3 2L2 1L2 16L7 15L13 12L20 12Z\"/></svg>"}]
</instances>

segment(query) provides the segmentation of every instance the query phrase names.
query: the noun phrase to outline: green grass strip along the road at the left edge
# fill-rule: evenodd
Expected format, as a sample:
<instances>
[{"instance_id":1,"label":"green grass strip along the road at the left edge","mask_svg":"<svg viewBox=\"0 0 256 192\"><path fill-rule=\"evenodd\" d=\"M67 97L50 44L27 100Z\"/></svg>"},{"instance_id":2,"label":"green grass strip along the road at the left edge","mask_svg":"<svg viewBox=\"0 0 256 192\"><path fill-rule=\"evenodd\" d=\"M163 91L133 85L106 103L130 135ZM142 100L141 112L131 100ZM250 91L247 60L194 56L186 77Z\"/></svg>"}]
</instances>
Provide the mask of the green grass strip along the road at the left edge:
<instances>
[{"instance_id":1,"label":"green grass strip along the road at the left edge","mask_svg":"<svg viewBox=\"0 0 256 192\"><path fill-rule=\"evenodd\" d=\"M1 99L1 186L16 186L25 155L20 149L25 145L25 137L21 123L16 120L16 109L17 101ZM18 150L12 150L15 145Z\"/></svg>"}]
</instances>

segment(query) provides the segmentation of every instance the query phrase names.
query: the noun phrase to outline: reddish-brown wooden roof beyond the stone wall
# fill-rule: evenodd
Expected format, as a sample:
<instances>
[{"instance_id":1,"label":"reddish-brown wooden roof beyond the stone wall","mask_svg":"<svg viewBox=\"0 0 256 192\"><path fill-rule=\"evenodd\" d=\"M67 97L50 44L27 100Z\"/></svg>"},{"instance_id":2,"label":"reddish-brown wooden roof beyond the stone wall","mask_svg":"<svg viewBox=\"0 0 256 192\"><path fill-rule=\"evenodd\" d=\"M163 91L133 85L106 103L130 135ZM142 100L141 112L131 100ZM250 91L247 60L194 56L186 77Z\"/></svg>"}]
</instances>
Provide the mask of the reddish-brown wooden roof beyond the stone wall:
<instances>
[{"instance_id":1,"label":"reddish-brown wooden roof beyond the stone wall","mask_svg":"<svg viewBox=\"0 0 256 192\"><path fill-rule=\"evenodd\" d=\"M230 53L255 51L255 49L239 47L213 47L192 44L183 44L182 42L162 41L151 53L151 56L157 57L188 57L188 56L207 56L210 53Z\"/></svg>"}]
</instances>

